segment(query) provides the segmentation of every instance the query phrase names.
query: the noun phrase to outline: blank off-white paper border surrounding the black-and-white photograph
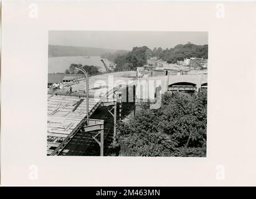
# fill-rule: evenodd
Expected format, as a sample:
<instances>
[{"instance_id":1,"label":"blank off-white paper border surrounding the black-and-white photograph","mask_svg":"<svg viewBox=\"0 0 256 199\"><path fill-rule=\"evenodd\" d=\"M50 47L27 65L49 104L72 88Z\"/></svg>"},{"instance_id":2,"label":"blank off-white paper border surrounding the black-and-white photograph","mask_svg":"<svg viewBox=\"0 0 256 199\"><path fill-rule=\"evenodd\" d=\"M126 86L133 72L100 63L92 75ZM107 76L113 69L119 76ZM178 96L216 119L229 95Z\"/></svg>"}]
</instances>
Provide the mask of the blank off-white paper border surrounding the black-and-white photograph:
<instances>
[{"instance_id":1,"label":"blank off-white paper border surrounding the black-and-white photograph","mask_svg":"<svg viewBox=\"0 0 256 199\"><path fill-rule=\"evenodd\" d=\"M256 185L256 4L216 4L2 2L2 185ZM209 32L207 157L47 157L48 30Z\"/></svg>"}]
</instances>

